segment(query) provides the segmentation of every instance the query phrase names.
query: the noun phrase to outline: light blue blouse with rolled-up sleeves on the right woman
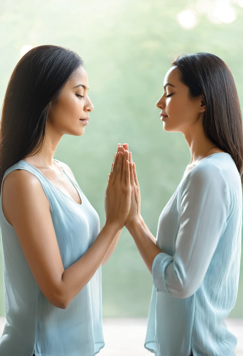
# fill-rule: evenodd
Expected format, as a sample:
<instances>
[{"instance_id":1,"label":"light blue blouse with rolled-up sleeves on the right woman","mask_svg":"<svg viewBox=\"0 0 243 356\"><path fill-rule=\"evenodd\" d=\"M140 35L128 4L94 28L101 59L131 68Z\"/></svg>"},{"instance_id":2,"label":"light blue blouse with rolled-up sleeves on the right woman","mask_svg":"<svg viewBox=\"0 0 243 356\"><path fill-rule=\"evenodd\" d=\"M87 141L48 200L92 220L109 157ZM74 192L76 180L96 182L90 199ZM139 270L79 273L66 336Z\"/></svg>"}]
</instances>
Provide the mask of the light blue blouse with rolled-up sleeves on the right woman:
<instances>
[{"instance_id":1,"label":"light blue blouse with rolled-up sleeves on the right woman","mask_svg":"<svg viewBox=\"0 0 243 356\"><path fill-rule=\"evenodd\" d=\"M236 355L225 318L238 292L241 229L239 172L228 153L213 153L184 173L160 215L146 349Z\"/></svg>"}]
</instances>

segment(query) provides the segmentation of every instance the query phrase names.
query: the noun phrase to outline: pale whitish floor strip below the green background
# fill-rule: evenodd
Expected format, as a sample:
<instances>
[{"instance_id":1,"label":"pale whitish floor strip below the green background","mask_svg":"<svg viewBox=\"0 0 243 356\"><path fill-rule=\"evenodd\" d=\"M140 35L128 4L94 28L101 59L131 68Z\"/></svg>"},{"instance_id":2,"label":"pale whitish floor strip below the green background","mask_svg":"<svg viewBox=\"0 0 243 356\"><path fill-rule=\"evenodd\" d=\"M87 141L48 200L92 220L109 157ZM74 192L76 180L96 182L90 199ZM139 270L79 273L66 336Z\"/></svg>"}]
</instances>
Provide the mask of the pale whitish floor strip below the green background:
<instances>
[{"instance_id":1,"label":"pale whitish floor strip below the green background","mask_svg":"<svg viewBox=\"0 0 243 356\"><path fill-rule=\"evenodd\" d=\"M227 328L237 337L236 355L243 356L243 319L227 318ZM0 316L0 335L6 318ZM143 318L104 318L104 339L106 345L100 356L149 356L154 355L144 348L147 320ZM226 356L226 355L225 355Z\"/></svg>"}]
</instances>

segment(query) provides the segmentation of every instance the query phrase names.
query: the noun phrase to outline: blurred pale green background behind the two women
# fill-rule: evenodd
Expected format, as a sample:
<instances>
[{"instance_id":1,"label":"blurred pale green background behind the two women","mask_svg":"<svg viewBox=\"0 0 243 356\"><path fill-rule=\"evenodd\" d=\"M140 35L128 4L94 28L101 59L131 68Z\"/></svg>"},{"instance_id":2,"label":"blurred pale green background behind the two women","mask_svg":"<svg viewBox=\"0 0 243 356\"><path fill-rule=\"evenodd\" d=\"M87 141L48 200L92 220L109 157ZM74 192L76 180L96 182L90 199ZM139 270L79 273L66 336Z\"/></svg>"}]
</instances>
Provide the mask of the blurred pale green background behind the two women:
<instances>
[{"instance_id":1,"label":"blurred pale green background behind the two women","mask_svg":"<svg viewBox=\"0 0 243 356\"><path fill-rule=\"evenodd\" d=\"M0 102L24 45L53 44L85 59L89 95L95 107L85 135L64 135L54 158L66 162L101 227L104 190L118 143L129 143L137 167L142 216L154 236L163 207L190 162L181 133L163 131L155 103L172 58L180 52L210 52L232 70L243 103L243 9L237 20L215 25L201 16L193 30L176 20L195 1L180 0L9 0L0 3ZM243 259L237 302L231 317L243 318ZM147 316L151 275L123 229L102 269L103 315ZM0 265L0 315L5 315Z\"/></svg>"}]
</instances>

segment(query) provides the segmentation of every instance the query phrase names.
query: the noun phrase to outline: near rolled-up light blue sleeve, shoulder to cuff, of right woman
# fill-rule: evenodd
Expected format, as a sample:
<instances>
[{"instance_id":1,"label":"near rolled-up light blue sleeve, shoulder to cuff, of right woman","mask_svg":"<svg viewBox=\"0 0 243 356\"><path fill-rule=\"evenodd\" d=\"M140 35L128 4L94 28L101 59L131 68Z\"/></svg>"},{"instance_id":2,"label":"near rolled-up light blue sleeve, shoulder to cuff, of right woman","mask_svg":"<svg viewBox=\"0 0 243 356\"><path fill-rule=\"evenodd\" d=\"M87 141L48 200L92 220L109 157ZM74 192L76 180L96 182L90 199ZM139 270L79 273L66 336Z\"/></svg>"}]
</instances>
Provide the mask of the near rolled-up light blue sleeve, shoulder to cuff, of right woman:
<instances>
[{"instance_id":1,"label":"near rolled-up light blue sleeve, shoulder to cuff, of right woman","mask_svg":"<svg viewBox=\"0 0 243 356\"><path fill-rule=\"evenodd\" d=\"M155 257L152 281L157 292L188 298L200 287L229 216L229 189L220 169L194 167L180 187L177 209L174 256L161 252Z\"/></svg>"}]
</instances>

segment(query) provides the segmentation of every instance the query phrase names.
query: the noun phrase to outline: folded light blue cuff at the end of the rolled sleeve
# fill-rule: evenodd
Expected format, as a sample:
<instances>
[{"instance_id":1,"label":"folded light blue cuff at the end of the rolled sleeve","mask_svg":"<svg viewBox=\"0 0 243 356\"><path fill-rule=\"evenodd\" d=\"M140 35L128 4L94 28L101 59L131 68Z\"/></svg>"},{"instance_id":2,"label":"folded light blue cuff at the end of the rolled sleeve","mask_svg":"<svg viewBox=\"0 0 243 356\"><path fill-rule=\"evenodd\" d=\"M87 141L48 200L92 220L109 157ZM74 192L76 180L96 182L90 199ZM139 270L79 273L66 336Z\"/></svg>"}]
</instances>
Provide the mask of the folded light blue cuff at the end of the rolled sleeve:
<instances>
[{"instance_id":1,"label":"folded light blue cuff at the end of the rolled sleeve","mask_svg":"<svg viewBox=\"0 0 243 356\"><path fill-rule=\"evenodd\" d=\"M152 263L152 281L156 288L156 292L164 292L168 293L165 278L164 278L164 271L166 267L173 261L173 257L167 255L167 253L161 252L159 253L153 260Z\"/></svg>"}]
</instances>

